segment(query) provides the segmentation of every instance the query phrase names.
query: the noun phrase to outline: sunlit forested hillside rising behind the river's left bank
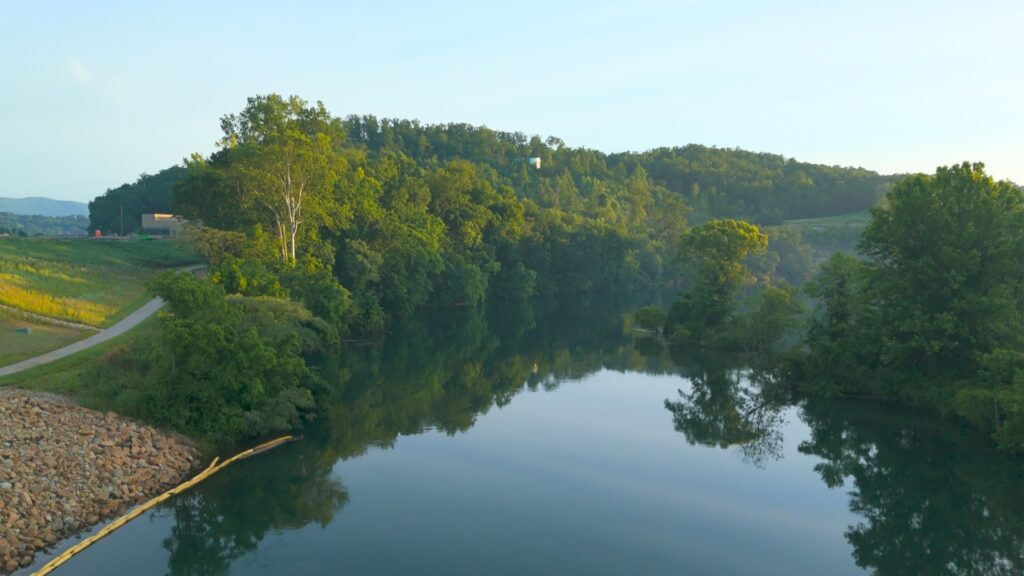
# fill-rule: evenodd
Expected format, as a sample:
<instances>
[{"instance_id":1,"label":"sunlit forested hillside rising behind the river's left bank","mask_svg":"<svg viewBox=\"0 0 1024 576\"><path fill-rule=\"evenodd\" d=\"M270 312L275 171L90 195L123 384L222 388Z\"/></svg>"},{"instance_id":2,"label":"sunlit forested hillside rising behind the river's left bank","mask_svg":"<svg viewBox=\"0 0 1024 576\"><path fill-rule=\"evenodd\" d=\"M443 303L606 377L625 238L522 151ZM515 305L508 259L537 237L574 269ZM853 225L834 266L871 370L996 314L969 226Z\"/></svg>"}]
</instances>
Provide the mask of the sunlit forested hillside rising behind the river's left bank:
<instances>
[{"instance_id":1,"label":"sunlit forested hillside rising behind the river's left bank","mask_svg":"<svg viewBox=\"0 0 1024 576\"><path fill-rule=\"evenodd\" d=\"M338 119L276 94L221 127L221 150L186 161L175 211L229 233L259 225L282 261L317 260L350 292L356 332L427 305L664 286L688 214L828 215L872 205L888 182L738 150L606 156L465 124ZM808 212L809 199L827 200ZM779 238L772 265L800 282L804 247Z\"/></svg>"}]
</instances>

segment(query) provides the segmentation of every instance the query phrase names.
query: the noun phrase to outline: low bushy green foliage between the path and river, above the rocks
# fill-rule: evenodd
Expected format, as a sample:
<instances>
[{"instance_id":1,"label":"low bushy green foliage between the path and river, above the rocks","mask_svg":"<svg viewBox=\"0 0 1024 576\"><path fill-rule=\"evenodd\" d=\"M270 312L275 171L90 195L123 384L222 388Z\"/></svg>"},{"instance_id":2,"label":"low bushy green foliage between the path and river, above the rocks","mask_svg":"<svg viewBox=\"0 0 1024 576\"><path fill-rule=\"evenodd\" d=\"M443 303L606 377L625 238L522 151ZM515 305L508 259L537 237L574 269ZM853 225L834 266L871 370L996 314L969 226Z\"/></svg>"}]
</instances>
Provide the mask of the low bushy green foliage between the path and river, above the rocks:
<instances>
[{"instance_id":1,"label":"low bushy green foliage between the path and river, above the rocks","mask_svg":"<svg viewBox=\"0 0 1024 576\"><path fill-rule=\"evenodd\" d=\"M167 300L159 340L139 340L83 375L124 413L214 444L292 429L314 413L304 354L326 323L300 304L234 296L189 274L153 285Z\"/></svg>"}]
</instances>

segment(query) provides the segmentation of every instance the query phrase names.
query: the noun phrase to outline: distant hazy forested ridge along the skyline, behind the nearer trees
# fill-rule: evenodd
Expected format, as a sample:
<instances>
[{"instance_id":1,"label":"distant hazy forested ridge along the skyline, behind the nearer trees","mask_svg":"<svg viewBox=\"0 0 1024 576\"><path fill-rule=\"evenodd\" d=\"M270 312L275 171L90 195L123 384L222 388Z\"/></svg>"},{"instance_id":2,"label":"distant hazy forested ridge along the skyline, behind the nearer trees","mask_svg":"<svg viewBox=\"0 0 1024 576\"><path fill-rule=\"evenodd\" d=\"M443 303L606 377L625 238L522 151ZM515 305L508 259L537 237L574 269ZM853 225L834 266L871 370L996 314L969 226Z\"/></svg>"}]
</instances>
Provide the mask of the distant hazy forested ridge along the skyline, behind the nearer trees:
<instances>
[{"instance_id":1,"label":"distant hazy forested ridge along the skyline, behind the nearer trees","mask_svg":"<svg viewBox=\"0 0 1024 576\"><path fill-rule=\"evenodd\" d=\"M637 192L635 184L649 179L683 200L692 210L691 220L732 217L772 224L870 208L898 179L863 168L699 145L606 155L566 147L556 137L542 140L468 124L373 116L349 116L342 124L347 141L371 154L400 151L428 164L461 158L494 169L520 196L543 207L591 214L625 207ZM539 170L530 158L541 159Z\"/></svg>"}]
</instances>

